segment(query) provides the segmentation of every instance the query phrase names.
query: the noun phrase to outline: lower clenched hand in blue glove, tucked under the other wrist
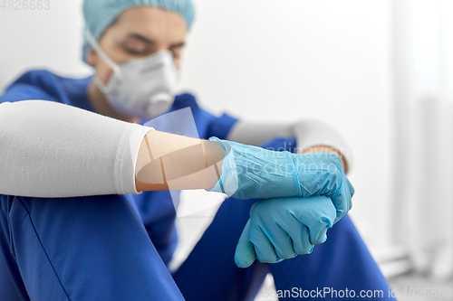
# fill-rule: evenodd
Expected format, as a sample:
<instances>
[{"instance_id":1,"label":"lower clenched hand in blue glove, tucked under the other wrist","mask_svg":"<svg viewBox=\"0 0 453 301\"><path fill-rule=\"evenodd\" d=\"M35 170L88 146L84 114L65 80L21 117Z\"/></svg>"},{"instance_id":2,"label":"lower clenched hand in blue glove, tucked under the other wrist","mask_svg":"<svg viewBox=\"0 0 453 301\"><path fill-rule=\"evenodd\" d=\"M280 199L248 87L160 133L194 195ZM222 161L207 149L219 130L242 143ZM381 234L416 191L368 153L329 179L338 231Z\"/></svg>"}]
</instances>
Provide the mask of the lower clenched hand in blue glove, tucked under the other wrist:
<instances>
[{"instance_id":1,"label":"lower clenched hand in blue glove, tucked under the other wrist","mask_svg":"<svg viewBox=\"0 0 453 301\"><path fill-rule=\"evenodd\" d=\"M255 259L273 263L311 253L313 245L327 240L335 216L335 207L325 196L255 202L237 242L236 266L248 268Z\"/></svg>"}]
</instances>

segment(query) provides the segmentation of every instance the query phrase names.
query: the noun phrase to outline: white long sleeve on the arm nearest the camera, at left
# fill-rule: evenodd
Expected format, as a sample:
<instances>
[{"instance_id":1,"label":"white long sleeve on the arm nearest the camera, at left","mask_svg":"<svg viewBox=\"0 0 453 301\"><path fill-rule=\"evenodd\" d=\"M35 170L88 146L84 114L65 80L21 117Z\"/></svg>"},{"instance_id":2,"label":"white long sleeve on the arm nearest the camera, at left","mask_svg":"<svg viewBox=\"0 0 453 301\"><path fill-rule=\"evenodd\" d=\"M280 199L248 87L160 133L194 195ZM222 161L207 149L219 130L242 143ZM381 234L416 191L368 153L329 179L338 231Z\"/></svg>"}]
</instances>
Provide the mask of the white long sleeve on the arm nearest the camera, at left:
<instances>
[{"instance_id":1,"label":"white long sleeve on the arm nearest the camera, at left","mask_svg":"<svg viewBox=\"0 0 453 301\"><path fill-rule=\"evenodd\" d=\"M46 100L0 104L0 193L138 193L135 163L152 127Z\"/></svg>"}]
</instances>

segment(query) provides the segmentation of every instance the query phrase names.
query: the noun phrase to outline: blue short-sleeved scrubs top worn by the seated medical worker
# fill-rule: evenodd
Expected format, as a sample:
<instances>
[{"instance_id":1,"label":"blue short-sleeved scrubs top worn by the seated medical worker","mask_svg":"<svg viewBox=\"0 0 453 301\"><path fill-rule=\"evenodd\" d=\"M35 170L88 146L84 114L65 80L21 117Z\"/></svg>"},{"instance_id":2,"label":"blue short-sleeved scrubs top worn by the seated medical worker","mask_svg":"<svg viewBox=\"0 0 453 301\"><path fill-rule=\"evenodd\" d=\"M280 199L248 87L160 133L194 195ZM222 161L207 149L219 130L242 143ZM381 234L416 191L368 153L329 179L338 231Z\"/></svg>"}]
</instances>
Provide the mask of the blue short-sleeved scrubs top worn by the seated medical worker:
<instances>
[{"instance_id":1,"label":"blue short-sleeved scrubs top worn by the seated medical worker","mask_svg":"<svg viewBox=\"0 0 453 301\"><path fill-rule=\"evenodd\" d=\"M87 96L91 80L92 76L83 79L69 79L50 71L28 71L5 90L4 95L0 97L0 103L43 99L94 112ZM198 135L202 139L210 136L225 139L237 121L236 118L226 114L221 117L209 114L198 106L197 100L190 94L178 95L169 112L180 108L192 110ZM148 120L141 120L140 123L144 124L146 121ZM131 202L137 204L150 240L159 251L163 261L166 264L169 263L178 243L175 227L176 211L169 192L143 192L126 195Z\"/></svg>"}]
</instances>

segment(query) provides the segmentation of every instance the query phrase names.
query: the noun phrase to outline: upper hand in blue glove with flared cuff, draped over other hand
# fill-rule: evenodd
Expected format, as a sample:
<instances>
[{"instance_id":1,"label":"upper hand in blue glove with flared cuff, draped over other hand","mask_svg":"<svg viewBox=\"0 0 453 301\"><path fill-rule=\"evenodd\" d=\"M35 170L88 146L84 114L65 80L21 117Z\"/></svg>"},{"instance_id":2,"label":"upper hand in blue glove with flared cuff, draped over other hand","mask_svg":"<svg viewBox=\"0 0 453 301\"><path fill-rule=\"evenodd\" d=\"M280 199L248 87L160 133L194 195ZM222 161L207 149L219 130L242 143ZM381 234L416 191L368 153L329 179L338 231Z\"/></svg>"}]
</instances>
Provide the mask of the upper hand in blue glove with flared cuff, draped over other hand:
<instances>
[{"instance_id":1,"label":"upper hand in blue glove with flared cuff, draped over other hand","mask_svg":"<svg viewBox=\"0 0 453 301\"><path fill-rule=\"evenodd\" d=\"M332 199L336 221L352 208L352 184L342 159L331 153L292 154L236 142L217 141L225 150L222 175L212 192L237 199L325 195Z\"/></svg>"}]
</instances>

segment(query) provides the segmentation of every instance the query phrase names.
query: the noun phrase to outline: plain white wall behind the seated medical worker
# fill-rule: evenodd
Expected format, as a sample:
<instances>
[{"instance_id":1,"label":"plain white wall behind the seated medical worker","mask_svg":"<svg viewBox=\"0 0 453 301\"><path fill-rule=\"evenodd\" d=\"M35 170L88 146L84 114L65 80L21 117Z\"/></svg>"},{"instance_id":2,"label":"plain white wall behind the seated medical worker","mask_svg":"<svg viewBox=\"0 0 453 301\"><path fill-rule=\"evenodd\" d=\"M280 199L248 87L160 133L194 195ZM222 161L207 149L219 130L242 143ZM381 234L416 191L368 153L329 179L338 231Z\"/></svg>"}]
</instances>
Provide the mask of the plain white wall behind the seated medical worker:
<instances>
[{"instance_id":1,"label":"plain white wall behind the seated medical worker","mask_svg":"<svg viewBox=\"0 0 453 301\"><path fill-rule=\"evenodd\" d=\"M194 2L184 87L215 113L338 127L356 159L352 217L373 249L389 244L390 0ZM0 90L30 68L89 74L81 5L0 9Z\"/></svg>"}]
</instances>

